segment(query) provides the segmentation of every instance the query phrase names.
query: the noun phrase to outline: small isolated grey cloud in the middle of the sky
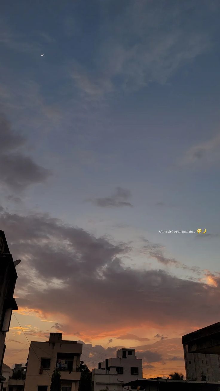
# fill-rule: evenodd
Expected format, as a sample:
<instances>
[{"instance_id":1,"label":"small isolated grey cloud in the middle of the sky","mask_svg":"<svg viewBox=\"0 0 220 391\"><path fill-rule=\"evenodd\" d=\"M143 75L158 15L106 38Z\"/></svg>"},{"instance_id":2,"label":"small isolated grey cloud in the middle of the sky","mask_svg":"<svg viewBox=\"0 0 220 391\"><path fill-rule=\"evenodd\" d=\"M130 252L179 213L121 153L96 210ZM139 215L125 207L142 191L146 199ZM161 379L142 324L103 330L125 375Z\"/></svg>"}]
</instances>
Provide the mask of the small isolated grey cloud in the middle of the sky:
<instances>
[{"instance_id":1,"label":"small isolated grey cloud in the middle of the sky","mask_svg":"<svg viewBox=\"0 0 220 391\"><path fill-rule=\"evenodd\" d=\"M116 187L115 193L110 197L88 199L86 201L91 201L93 204L101 206L102 208L120 208L122 206L133 206L130 202L126 201L129 197L131 197L131 192L129 190L123 189L122 187Z\"/></svg>"}]
</instances>

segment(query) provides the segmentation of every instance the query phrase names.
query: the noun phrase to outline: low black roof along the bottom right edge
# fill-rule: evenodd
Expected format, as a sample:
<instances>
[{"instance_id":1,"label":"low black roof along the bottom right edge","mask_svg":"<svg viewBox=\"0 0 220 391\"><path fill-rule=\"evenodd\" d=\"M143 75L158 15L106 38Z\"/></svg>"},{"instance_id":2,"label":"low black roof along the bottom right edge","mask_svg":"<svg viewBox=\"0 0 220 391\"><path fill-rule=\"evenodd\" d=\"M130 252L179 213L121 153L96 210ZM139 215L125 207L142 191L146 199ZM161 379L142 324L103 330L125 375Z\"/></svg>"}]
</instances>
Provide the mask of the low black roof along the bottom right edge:
<instances>
[{"instance_id":1,"label":"low black roof along the bottom right edge","mask_svg":"<svg viewBox=\"0 0 220 391\"><path fill-rule=\"evenodd\" d=\"M196 382L189 380L147 380L140 379L128 382L123 386L124 391L219 391L220 383Z\"/></svg>"}]
</instances>

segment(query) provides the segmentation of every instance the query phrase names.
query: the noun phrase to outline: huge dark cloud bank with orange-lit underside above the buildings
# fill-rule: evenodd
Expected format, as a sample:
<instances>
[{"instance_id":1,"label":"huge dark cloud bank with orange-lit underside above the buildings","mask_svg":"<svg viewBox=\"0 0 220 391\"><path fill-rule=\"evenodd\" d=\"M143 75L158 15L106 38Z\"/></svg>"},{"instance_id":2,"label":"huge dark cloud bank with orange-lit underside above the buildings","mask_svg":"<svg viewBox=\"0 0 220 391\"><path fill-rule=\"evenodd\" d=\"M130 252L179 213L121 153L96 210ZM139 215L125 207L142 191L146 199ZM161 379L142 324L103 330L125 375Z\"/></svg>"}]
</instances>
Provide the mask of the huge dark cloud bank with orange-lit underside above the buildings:
<instances>
[{"instance_id":1,"label":"huge dark cloud bank with orange-lit underside above the buildings","mask_svg":"<svg viewBox=\"0 0 220 391\"><path fill-rule=\"evenodd\" d=\"M123 255L128 249L123 244L113 245L49 215L4 212L0 226L14 258L22 260L18 305L65 315L66 332L80 327L91 335L120 329L131 316L142 325L150 321L157 326L188 325L191 319L203 326L204 313L209 323L217 321L219 276L212 286L163 270L126 267Z\"/></svg>"}]
</instances>

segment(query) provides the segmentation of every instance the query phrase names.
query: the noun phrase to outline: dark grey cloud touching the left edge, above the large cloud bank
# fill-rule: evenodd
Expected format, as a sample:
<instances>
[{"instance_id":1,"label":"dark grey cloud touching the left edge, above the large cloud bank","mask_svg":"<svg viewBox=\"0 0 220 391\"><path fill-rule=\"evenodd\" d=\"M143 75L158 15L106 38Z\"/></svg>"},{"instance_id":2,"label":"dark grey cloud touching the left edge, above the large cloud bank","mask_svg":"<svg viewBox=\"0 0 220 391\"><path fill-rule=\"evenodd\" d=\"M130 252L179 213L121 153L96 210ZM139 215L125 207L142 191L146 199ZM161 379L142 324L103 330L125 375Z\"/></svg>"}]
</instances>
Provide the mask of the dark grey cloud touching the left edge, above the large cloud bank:
<instances>
[{"instance_id":1,"label":"dark grey cloud touching the left edge, above the large cloud bank","mask_svg":"<svg viewBox=\"0 0 220 391\"><path fill-rule=\"evenodd\" d=\"M50 171L36 164L32 158L15 152L25 138L11 130L11 124L0 116L0 142L4 146L0 156L0 183L14 191L21 191L34 183L46 181ZM18 198L19 199L19 198Z\"/></svg>"}]
</instances>

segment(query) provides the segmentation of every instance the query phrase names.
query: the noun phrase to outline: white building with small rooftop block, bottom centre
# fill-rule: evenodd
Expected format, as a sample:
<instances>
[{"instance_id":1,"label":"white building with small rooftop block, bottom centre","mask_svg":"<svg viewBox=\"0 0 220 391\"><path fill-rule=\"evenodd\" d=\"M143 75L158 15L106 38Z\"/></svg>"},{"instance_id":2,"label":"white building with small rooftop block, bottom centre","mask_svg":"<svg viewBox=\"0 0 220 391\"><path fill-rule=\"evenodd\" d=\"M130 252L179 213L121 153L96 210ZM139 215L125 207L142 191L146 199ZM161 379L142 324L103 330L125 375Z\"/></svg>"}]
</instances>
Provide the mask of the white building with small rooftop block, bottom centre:
<instances>
[{"instance_id":1,"label":"white building with small rooftop block, bottom centre","mask_svg":"<svg viewBox=\"0 0 220 391\"><path fill-rule=\"evenodd\" d=\"M99 362L98 369L93 369L93 391L120 391L124 383L138 378L142 378L142 360L137 359L135 349L119 349L116 357Z\"/></svg>"}]
</instances>

